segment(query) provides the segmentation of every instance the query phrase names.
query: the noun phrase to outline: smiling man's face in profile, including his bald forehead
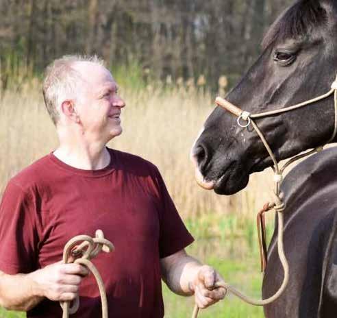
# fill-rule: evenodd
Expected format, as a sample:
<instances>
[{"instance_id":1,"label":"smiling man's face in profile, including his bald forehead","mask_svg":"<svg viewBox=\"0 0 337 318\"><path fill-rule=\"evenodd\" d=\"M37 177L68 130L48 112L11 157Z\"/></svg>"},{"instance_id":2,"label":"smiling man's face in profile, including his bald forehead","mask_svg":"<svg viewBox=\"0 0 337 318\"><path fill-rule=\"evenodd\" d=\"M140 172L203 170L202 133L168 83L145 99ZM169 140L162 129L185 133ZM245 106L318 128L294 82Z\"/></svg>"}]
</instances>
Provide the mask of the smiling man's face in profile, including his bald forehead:
<instances>
[{"instance_id":1,"label":"smiling man's face in profile, including his bald forehead","mask_svg":"<svg viewBox=\"0 0 337 318\"><path fill-rule=\"evenodd\" d=\"M75 103L83 133L91 140L107 143L122 133L120 115L125 102L118 96L116 82L105 67L78 62L74 68L86 82Z\"/></svg>"}]
</instances>

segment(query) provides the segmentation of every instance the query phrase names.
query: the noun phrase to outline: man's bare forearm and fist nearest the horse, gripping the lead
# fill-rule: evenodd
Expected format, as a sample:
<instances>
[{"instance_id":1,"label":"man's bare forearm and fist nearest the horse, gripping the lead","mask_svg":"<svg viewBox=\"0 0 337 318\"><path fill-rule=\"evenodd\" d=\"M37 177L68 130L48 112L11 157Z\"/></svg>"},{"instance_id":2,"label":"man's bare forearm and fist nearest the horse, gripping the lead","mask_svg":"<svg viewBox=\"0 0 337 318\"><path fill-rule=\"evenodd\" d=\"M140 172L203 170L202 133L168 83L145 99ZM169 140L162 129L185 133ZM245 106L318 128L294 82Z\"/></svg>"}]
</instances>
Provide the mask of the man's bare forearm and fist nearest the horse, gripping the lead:
<instances>
[{"instance_id":1,"label":"man's bare forearm and fist nearest the horse, gripping the lead","mask_svg":"<svg viewBox=\"0 0 337 318\"><path fill-rule=\"evenodd\" d=\"M225 289L214 289L216 282L223 281L219 273L188 256L184 249L162 258L160 265L168 288L179 295L195 294L199 308L208 307L225 297Z\"/></svg>"}]
</instances>

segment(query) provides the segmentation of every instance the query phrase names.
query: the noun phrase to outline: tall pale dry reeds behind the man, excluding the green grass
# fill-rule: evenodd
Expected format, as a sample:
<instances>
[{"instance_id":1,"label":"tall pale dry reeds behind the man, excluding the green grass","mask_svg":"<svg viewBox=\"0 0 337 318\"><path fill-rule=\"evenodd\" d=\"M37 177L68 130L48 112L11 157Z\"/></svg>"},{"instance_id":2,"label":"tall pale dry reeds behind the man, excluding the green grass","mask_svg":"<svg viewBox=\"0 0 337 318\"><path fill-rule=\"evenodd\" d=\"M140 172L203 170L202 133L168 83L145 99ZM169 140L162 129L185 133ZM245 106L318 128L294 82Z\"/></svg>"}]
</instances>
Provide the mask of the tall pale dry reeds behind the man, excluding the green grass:
<instances>
[{"instance_id":1,"label":"tall pale dry reeds behind the man, excluding the green grass","mask_svg":"<svg viewBox=\"0 0 337 318\"><path fill-rule=\"evenodd\" d=\"M216 195L197 186L189 152L213 97L190 88L142 90L121 88L123 134L111 147L138 154L155 163L184 218L234 214L253 218L269 198L271 179L253 175L249 186L232 197ZM57 147L55 128L42 100L40 83L30 81L20 92L6 91L0 101L0 193L6 182L40 156Z\"/></svg>"}]
</instances>

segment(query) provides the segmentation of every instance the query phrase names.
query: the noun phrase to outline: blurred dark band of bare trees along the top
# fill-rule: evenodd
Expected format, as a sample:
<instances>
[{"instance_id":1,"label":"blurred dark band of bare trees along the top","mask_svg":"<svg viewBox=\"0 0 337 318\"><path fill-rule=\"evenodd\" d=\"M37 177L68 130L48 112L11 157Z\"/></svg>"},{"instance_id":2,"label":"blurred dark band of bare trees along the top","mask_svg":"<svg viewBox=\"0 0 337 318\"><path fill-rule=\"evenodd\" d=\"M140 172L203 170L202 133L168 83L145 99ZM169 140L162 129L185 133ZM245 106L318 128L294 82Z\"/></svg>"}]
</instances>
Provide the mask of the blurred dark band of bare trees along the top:
<instances>
[{"instance_id":1,"label":"blurred dark band of bare trees along the top","mask_svg":"<svg viewBox=\"0 0 337 318\"><path fill-rule=\"evenodd\" d=\"M138 61L155 79L204 75L217 90L237 81L259 52L266 28L292 0L18 0L0 2L0 59L42 71L69 53L108 64Z\"/></svg>"}]
</instances>

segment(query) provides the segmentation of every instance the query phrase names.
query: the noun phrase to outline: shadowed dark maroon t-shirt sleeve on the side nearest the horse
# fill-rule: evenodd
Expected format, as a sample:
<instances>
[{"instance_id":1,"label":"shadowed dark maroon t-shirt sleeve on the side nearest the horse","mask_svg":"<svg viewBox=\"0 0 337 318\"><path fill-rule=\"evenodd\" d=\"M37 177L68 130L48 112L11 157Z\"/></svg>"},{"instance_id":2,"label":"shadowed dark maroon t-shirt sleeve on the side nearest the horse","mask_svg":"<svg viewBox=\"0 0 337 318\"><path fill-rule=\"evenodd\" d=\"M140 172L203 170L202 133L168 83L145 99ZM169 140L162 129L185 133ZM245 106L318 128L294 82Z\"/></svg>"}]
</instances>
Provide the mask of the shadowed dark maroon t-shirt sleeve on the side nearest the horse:
<instances>
[{"instance_id":1,"label":"shadowed dark maroon t-shirt sleeve on the side nearest the horse","mask_svg":"<svg viewBox=\"0 0 337 318\"><path fill-rule=\"evenodd\" d=\"M155 169L155 174L160 196L159 252L160 258L164 258L184 249L194 241L194 238L179 216L158 169Z\"/></svg>"}]
</instances>

